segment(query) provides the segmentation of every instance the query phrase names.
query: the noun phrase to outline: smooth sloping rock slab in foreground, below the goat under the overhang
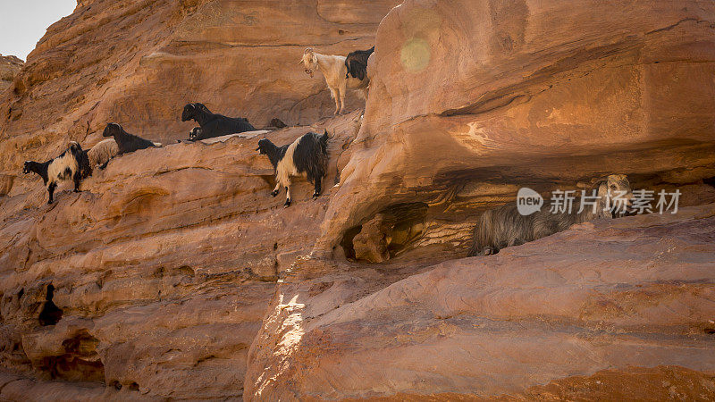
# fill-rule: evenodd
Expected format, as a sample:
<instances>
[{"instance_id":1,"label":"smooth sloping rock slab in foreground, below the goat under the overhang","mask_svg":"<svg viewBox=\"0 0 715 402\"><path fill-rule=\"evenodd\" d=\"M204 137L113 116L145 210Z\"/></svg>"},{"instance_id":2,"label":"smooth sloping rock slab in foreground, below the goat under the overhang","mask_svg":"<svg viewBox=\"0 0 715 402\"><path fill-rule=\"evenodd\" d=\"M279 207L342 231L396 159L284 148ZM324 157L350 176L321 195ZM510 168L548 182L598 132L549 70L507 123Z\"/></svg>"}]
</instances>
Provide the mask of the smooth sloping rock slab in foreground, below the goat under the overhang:
<instances>
[{"instance_id":1,"label":"smooth sloping rock slab in foreground, below the goat under the overhang","mask_svg":"<svg viewBox=\"0 0 715 402\"><path fill-rule=\"evenodd\" d=\"M273 297L244 397L576 398L590 382L593 398L610 375L597 373L617 369L631 395L715 398L713 240L711 204L587 222L401 280L306 262Z\"/></svg>"}]
</instances>

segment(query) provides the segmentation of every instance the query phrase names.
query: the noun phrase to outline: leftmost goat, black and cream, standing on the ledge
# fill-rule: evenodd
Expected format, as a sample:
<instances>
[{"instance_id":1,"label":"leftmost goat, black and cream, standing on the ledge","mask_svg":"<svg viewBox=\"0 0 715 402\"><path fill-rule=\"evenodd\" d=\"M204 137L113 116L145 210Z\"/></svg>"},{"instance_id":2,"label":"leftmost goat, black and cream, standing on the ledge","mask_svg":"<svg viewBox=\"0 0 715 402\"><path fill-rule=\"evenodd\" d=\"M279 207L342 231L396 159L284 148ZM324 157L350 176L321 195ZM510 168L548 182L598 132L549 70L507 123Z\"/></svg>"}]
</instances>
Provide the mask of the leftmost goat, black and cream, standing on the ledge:
<instances>
[{"instance_id":1,"label":"leftmost goat, black and cream, standing on the ledge","mask_svg":"<svg viewBox=\"0 0 715 402\"><path fill-rule=\"evenodd\" d=\"M47 204L52 204L57 182L73 180L74 192L80 192L80 181L87 177L91 170L87 154L82 151L79 143L71 141L70 147L55 159L50 159L45 163L25 161L22 172L25 174L35 172L42 178L47 186L47 193L49 193Z\"/></svg>"}]
</instances>

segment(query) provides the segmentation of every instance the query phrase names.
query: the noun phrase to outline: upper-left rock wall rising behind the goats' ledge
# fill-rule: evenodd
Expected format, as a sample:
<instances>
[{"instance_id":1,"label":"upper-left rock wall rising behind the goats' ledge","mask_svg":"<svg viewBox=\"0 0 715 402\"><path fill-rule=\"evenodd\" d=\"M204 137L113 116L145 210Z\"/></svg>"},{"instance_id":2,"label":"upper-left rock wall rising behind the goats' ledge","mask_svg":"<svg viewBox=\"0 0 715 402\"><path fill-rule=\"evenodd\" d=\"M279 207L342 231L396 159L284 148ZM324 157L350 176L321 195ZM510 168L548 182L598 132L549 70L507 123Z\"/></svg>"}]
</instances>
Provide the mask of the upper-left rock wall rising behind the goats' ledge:
<instances>
[{"instance_id":1,"label":"upper-left rock wall rising behind the goats' ledge","mask_svg":"<svg viewBox=\"0 0 715 402\"><path fill-rule=\"evenodd\" d=\"M188 138L193 125L181 122L181 110L189 102L257 128L273 118L306 125L331 116L322 75L311 79L297 65L304 49L369 48L397 4L80 2L47 29L12 90L0 95L0 174L17 176L23 158L49 159L68 140L94 145L110 121L164 144ZM365 105L349 100L348 110Z\"/></svg>"}]
</instances>

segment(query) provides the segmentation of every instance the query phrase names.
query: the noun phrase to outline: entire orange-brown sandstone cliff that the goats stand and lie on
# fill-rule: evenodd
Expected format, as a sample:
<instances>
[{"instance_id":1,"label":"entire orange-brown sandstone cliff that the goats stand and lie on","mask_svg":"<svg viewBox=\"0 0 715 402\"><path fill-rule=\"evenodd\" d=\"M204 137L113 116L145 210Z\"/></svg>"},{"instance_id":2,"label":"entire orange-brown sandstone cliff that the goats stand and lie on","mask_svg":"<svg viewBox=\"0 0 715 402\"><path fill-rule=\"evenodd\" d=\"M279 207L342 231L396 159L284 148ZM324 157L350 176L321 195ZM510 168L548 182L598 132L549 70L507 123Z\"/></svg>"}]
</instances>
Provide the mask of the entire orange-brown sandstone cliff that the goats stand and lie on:
<instances>
[{"instance_id":1,"label":"entire orange-brown sandstone cliff that the goats stand and lie on","mask_svg":"<svg viewBox=\"0 0 715 402\"><path fill-rule=\"evenodd\" d=\"M398 3L89 0L50 27L0 100L0 398L715 398L715 6ZM366 109L326 117L303 48L373 43ZM189 101L279 117L277 144L328 130L324 195L269 197L263 134L175 143ZM168 145L46 205L21 162L107 121ZM465 258L517 188L610 172L678 214Z\"/></svg>"}]
</instances>

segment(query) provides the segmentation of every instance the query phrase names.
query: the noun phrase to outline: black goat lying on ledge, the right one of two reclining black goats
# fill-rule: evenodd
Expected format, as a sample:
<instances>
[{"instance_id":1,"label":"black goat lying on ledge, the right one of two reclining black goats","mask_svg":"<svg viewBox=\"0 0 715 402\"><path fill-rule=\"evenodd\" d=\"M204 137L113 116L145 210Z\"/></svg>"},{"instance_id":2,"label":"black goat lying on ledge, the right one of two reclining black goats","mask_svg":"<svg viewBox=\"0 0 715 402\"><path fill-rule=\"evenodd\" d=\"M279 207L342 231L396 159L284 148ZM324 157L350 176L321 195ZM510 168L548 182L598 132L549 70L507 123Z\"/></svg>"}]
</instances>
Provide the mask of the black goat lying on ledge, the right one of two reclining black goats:
<instances>
[{"instance_id":1,"label":"black goat lying on ledge, the right one of two reclining black goats","mask_svg":"<svg viewBox=\"0 0 715 402\"><path fill-rule=\"evenodd\" d=\"M199 103L184 106L181 121L189 120L194 120L201 126L201 130L198 130L193 138L189 137L191 141L256 130L248 123L248 119L211 113L205 105Z\"/></svg>"}]
</instances>

